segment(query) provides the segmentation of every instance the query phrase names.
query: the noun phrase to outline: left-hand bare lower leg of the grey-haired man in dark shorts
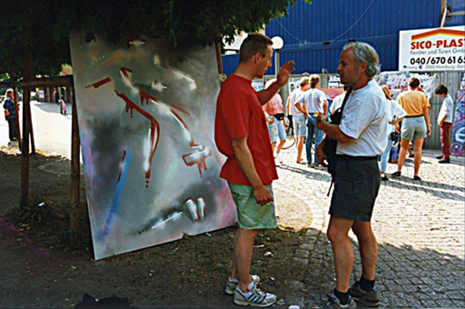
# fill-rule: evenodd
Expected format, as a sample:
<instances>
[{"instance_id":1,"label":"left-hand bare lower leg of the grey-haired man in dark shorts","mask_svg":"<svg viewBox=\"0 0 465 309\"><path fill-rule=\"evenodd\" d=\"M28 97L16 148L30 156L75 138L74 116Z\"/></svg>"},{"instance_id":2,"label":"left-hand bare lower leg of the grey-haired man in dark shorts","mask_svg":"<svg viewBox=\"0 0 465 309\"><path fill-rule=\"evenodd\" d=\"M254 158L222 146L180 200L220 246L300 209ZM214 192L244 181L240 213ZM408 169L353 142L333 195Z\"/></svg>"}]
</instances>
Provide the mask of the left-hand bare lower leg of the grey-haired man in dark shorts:
<instances>
[{"instance_id":1,"label":"left-hand bare lower leg of the grey-haired man in dark shorts","mask_svg":"<svg viewBox=\"0 0 465 309\"><path fill-rule=\"evenodd\" d=\"M328 226L328 238L331 242L334 267L336 268L336 290L342 293L349 290L351 281L353 251L348 233L353 223L353 220L331 215Z\"/></svg>"}]
</instances>

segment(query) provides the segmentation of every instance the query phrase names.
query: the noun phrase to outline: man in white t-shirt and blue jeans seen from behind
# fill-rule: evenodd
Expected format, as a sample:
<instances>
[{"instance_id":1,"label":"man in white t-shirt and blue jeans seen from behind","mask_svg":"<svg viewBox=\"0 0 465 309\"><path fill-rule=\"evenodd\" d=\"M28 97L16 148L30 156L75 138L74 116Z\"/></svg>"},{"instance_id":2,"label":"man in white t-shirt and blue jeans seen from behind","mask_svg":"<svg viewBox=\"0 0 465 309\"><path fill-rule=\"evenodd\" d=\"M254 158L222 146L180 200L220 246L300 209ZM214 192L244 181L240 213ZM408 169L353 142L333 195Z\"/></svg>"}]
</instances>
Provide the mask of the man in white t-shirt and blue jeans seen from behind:
<instances>
[{"instance_id":1,"label":"man in white t-shirt and blue jeans seen from behind","mask_svg":"<svg viewBox=\"0 0 465 309\"><path fill-rule=\"evenodd\" d=\"M297 102L305 105L307 111L307 138L305 140L305 151L307 153L307 164L309 167L321 169L322 166L318 164L316 152L312 161L312 144L313 135L315 137L315 149L323 140L323 132L316 125L316 118L318 115L326 115L328 113L328 100L322 90L318 89L320 86L320 76L310 76L310 89L304 92ZM313 163L312 163L313 162Z\"/></svg>"}]
</instances>

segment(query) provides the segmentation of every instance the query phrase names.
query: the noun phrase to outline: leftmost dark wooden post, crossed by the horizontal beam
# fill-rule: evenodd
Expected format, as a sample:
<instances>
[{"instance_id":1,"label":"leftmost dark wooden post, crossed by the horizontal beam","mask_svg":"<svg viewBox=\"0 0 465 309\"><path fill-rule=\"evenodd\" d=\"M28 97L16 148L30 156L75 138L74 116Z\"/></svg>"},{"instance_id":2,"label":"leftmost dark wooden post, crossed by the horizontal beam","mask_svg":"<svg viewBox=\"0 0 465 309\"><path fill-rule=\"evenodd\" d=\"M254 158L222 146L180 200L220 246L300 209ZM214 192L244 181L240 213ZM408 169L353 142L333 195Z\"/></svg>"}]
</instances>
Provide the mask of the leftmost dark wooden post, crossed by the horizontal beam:
<instances>
[{"instance_id":1,"label":"leftmost dark wooden post, crossed by the horizontal beam","mask_svg":"<svg viewBox=\"0 0 465 309\"><path fill-rule=\"evenodd\" d=\"M31 52L25 53L25 80L29 80L32 74L33 55ZM24 88L23 94L23 147L21 150L21 194L19 200L20 208L27 206L27 199L29 197L29 128L30 128L30 114L31 114L31 89Z\"/></svg>"}]
</instances>

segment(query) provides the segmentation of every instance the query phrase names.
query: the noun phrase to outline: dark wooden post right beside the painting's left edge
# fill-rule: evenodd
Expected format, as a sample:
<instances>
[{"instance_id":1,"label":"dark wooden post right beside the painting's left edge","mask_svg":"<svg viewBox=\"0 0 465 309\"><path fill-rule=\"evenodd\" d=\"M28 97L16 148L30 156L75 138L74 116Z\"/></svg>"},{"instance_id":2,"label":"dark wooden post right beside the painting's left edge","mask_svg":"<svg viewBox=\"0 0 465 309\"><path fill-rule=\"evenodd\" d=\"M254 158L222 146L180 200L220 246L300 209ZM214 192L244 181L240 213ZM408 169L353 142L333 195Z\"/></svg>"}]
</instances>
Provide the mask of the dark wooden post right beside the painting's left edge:
<instances>
[{"instance_id":1,"label":"dark wooden post right beside the painting's left edge","mask_svg":"<svg viewBox=\"0 0 465 309\"><path fill-rule=\"evenodd\" d=\"M79 125L77 123L77 107L74 91L72 93L72 125L71 125L71 212L70 212L70 243L79 245L79 194L80 194L80 146Z\"/></svg>"}]
</instances>

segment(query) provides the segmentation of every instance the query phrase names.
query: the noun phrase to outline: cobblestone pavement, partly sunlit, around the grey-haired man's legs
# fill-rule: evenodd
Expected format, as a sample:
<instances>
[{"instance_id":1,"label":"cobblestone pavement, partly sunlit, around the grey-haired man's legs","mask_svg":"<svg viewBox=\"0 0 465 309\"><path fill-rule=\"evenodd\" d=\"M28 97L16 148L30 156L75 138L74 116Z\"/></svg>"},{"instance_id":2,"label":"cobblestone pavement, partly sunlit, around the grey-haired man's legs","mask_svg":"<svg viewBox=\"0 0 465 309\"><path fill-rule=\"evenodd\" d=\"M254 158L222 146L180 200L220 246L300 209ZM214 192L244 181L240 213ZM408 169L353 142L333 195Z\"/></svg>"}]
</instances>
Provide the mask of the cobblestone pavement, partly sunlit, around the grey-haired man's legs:
<instances>
[{"instance_id":1,"label":"cobblestone pavement, partly sunlit, around the grey-haired man's legs","mask_svg":"<svg viewBox=\"0 0 465 309\"><path fill-rule=\"evenodd\" d=\"M382 307L465 307L465 168L463 158L438 164L439 151L423 151L421 182L414 182L413 161L407 159L400 178L382 182L371 219L379 244L376 286ZM326 294L335 286L329 223L330 175L306 164L296 164L293 149L283 150L280 179L273 183L287 194L301 198L313 214L306 241L294 254L302 264L300 278L292 284L302 289L293 300L301 308L324 307ZM389 164L388 175L397 170ZM352 282L361 275L355 250Z\"/></svg>"}]
</instances>

